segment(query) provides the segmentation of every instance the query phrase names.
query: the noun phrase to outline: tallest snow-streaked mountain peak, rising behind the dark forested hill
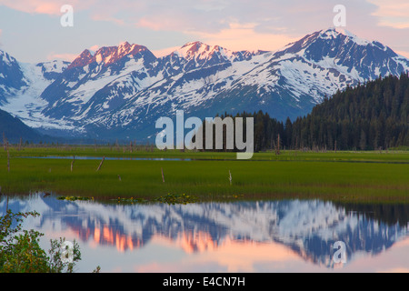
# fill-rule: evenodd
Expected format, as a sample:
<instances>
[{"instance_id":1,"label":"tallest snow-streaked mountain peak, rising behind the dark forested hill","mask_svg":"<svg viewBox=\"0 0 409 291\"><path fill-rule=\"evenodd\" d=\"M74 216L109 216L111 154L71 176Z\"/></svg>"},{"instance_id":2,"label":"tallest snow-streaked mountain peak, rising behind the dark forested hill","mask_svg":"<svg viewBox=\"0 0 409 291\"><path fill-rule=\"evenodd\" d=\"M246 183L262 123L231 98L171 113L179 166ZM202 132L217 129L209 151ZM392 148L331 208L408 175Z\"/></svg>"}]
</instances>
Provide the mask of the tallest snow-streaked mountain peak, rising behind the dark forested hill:
<instances>
[{"instance_id":1,"label":"tallest snow-streaked mountain peak, rising behind the dark forested hill","mask_svg":"<svg viewBox=\"0 0 409 291\"><path fill-rule=\"evenodd\" d=\"M280 120L294 119L309 113L325 95L408 69L409 61L390 48L328 29L274 53L215 99L214 109L224 99L238 111L263 110Z\"/></svg>"}]
</instances>

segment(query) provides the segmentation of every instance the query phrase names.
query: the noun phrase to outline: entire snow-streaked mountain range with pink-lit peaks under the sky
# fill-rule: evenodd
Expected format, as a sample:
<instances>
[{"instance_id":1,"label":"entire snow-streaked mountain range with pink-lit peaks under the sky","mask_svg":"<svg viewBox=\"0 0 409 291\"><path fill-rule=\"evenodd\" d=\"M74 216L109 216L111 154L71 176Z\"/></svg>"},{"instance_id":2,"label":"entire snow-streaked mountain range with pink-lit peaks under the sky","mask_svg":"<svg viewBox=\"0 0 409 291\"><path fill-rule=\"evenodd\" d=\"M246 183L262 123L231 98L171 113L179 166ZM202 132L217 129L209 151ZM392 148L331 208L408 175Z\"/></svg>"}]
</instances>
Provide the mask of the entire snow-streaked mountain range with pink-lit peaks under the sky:
<instances>
[{"instance_id":1,"label":"entire snow-streaked mountain range with pink-lit peaks under the sky","mask_svg":"<svg viewBox=\"0 0 409 291\"><path fill-rule=\"evenodd\" d=\"M0 108L50 135L155 141L155 121L176 110L200 118L263 110L294 120L338 90L408 70L388 46L339 28L276 52L193 42L156 57L125 42L85 49L71 63L31 65L0 51Z\"/></svg>"}]
</instances>

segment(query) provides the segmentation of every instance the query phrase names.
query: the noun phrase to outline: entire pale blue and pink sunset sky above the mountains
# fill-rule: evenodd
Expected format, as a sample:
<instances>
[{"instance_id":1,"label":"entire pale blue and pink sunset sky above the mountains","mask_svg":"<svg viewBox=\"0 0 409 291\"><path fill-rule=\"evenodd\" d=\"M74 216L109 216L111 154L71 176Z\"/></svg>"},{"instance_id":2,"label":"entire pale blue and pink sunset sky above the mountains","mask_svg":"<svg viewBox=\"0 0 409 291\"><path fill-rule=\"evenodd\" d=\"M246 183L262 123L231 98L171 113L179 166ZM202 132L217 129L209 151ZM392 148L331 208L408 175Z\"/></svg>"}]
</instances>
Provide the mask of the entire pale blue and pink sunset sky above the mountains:
<instances>
[{"instance_id":1,"label":"entire pale blue and pink sunset sky above the mountains","mask_svg":"<svg viewBox=\"0 0 409 291\"><path fill-rule=\"evenodd\" d=\"M72 26L61 24L73 8ZM18 61L73 61L85 49L122 42L156 56L188 42L230 50L275 51L334 26L409 57L408 0L0 0L0 49Z\"/></svg>"}]
</instances>

